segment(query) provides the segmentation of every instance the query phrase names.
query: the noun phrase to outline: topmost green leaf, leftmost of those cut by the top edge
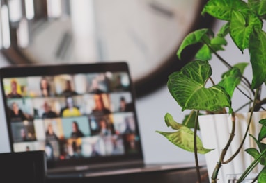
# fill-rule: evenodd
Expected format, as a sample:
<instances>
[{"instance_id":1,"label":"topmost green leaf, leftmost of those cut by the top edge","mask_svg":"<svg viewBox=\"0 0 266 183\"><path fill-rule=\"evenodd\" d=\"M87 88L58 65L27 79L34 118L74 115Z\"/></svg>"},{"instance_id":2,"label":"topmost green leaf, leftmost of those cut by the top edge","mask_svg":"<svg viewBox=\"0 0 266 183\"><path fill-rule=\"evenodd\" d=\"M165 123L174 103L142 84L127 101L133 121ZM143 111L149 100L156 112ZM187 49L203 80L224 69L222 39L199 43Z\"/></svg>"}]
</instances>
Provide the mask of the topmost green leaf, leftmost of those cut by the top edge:
<instances>
[{"instance_id":1,"label":"topmost green leaf, leftmost of those cut by the top edge","mask_svg":"<svg viewBox=\"0 0 266 183\"><path fill-rule=\"evenodd\" d=\"M231 12L233 10L240 12L250 11L247 3L241 0L209 0L208 3L205 4L201 14L204 15L207 12L217 19L230 21Z\"/></svg>"}]
</instances>

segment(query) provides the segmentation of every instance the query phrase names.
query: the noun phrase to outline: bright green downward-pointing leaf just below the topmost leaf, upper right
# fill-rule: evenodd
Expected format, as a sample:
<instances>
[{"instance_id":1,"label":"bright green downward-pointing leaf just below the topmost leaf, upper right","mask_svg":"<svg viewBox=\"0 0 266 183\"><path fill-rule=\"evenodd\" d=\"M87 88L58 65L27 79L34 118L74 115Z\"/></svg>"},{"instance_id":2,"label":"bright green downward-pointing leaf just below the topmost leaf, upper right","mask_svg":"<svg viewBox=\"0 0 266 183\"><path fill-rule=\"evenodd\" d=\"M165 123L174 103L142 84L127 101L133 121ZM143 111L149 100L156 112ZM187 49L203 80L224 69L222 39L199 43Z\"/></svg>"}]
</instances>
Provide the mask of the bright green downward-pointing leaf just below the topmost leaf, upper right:
<instances>
[{"instance_id":1,"label":"bright green downward-pointing leaf just below the topmost leaf, upper right","mask_svg":"<svg viewBox=\"0 0 266 183\"><path fill-rule=\"evenodd\" d=\"M262 21L255 14L251 13L247 16L242 12L232 12L230 36L240 51L249 47L249 36L253 32L253 28L262 28Z\"/></svg>"}]
</instances>

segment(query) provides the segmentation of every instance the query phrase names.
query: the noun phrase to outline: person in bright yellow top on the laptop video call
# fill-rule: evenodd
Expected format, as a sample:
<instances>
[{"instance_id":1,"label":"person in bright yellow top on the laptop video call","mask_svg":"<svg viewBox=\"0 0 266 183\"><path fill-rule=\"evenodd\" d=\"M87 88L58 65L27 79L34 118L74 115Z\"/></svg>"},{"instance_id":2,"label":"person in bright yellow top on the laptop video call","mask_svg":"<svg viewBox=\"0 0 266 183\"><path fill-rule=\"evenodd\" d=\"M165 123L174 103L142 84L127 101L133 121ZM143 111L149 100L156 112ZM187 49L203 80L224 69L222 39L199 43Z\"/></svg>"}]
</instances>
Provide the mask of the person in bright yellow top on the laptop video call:
<instances>
[{"instance_id":1,"label":"person in bright yellow top on the laptop video call","mask_svg":"<svg viewBox=\"0 0 266 183\"><path fill-rule=\"evenodd\" d=\"M70 116L81 116L81 112L79 112L79 108L74 105L74 100L71 96L67 96L65 98L66 107L62 110L63 117Z\"/></svg>"}]
</instances>

